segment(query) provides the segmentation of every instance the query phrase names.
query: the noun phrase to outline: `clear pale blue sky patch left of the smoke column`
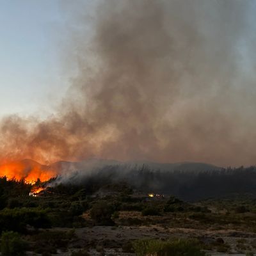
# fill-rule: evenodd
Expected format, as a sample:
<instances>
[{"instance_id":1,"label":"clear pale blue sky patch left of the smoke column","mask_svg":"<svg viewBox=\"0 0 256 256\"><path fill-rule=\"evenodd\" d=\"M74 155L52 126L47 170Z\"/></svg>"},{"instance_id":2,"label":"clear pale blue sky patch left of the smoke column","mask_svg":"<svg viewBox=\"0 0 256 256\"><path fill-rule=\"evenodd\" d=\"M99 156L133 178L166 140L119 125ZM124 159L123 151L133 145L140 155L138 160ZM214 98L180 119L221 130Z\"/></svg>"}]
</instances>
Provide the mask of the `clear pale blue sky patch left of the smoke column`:
<instances>
[{"instance_id":1,"label":"clear pale blue sky patch left of the smoke column","mask_svg":"<svg viewBox=\"0 0 256 256\"><path fill-rule=\"evenodd\" d=\"M60 81L57 0L0 0L0 116L51 111Z\"/></svg>"}]
</instances>

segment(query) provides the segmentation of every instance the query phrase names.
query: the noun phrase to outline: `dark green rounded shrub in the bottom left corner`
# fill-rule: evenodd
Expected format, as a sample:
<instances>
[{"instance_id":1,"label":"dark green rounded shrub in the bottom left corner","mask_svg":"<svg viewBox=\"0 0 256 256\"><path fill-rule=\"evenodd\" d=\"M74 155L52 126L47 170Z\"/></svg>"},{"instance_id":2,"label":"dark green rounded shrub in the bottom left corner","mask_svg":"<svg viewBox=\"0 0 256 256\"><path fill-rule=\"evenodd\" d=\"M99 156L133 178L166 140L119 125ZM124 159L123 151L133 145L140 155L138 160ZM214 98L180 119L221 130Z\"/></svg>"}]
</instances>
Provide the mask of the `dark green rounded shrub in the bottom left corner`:
<instances>
[{"instance_id":1,"label":"dark green rounded shrub in the bottom left corner","mask_svg":"<svg viewBox=\"0 0 256 256\"><path fill-rule=\"evenodd\" d=\"M1 252L5 256L26 255L27 244L13 231L3 232L1 236Z\"/></svg>"}]
</instances>

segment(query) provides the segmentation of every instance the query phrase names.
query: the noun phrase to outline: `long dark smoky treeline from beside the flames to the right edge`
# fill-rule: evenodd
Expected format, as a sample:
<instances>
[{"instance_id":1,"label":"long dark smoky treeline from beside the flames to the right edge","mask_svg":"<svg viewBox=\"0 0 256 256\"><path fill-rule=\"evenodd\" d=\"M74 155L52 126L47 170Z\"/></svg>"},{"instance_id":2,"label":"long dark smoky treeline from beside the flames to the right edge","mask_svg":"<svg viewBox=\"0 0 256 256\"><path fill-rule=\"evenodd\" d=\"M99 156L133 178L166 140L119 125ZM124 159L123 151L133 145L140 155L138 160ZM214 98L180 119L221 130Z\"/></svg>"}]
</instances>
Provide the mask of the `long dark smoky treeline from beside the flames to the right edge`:
<instances>
[{"instance_id":1,"label":"long dark smoky treeline from beside the flames to the right edge","mask_svg":"<svg viewBox=\"0 0 256 256\"><path fill-rule=\"evenodd\" d=\"M95 193L108 184L128 184L143 193L163 193L183 200L220 198L234 194L256 195L256 167L223 168L200 172L161 172L147 166L122 170L119 166L106 166L90 174L74 174L70 179L54 180L53 189L74 192L84 188L86 193Z\"/></svg>"}]
</instances>

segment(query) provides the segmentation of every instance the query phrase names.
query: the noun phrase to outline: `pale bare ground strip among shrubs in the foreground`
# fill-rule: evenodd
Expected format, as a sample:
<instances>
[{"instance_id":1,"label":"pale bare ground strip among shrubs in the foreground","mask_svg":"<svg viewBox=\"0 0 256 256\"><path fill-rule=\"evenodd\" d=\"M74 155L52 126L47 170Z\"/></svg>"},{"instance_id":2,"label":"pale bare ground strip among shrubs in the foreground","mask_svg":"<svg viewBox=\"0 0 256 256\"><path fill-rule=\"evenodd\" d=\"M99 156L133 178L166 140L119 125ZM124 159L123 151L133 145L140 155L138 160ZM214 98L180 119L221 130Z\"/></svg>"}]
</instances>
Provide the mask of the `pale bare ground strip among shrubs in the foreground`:
<instances>
[{"instance_id":1,"label":"pale bare ground strip among shrubs in the foreground","mask_svg":"<svg viewBox=\"0 0 256 256\"><path fill-rule=\"evenodd\" d=\"M58 230L67 231L68 228L58 228ZM91 255L122 255L131 256L133 253L122 253L120 249L122 244L127 241L135 239L166 239L171 237L188 237L198 238L204 243L211 243L218 237L221 237L225 243L230 244L232 254L208 252L212 256L243 256L243 253L236 252L237 241L244 239L246 243L250 243L256 239L256 234L251 232L241 232L237 230L196 230L192 228L163 228L156 225L150 227L146 226L119 226L119 227L84 227L76 228L77 241L74 243L75 248L88 248L88 246L95 246L95 248L104 248L101 252L97 250L89 250ZM70 252L59 253L59 255L70 255Z\"/></svg>"}]
</instances>

